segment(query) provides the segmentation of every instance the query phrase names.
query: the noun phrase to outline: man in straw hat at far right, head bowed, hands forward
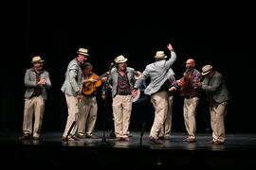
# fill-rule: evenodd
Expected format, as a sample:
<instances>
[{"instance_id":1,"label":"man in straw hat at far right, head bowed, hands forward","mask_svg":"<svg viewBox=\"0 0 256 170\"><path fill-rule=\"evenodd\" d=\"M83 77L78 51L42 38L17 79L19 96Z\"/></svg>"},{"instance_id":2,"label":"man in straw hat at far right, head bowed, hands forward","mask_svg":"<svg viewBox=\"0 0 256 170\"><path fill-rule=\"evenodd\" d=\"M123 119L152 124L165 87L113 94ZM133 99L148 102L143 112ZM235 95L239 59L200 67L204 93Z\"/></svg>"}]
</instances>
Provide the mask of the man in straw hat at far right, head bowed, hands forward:
<instances>
[{"instance_id":1,"label":"man in straw hat at far right, head bowed, hands forward","mask_svg":"<svg viewBox=\"0 0 256 170\"><path fill-rule=\"evenodd\" d=\"M225 126L224 117L228 109L229 92L224 77L213 70L211 65L202 68L203 82L194 83L195 88L206 92L210 102L210 126L212 129L212 140L209 144L224 144Z\"/></svg>"}]
</instances>

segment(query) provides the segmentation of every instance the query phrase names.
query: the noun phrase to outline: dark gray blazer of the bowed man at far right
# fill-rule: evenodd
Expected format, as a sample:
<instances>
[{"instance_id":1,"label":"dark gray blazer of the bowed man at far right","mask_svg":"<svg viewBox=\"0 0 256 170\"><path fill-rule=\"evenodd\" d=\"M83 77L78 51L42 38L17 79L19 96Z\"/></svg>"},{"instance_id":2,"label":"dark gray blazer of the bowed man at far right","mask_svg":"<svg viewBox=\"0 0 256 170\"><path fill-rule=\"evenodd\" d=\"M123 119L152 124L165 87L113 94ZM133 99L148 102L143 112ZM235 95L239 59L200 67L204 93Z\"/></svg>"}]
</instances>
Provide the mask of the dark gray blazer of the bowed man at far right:
<instances>
[{"instance_id":1,"label":"dark gray blazer of the bowed man at far right","mask_svg":"<svg viewBox=\"0 0 256 170\"><path fill-rule=\"evenodd\" d=\"M210 83L209 78L205 77L202 90L206 91L210 101L213 99L216 103L223 103L230 98L224 77L217 71L215 71L214 76L211 77Z\"/></svg>"}]
</instances>

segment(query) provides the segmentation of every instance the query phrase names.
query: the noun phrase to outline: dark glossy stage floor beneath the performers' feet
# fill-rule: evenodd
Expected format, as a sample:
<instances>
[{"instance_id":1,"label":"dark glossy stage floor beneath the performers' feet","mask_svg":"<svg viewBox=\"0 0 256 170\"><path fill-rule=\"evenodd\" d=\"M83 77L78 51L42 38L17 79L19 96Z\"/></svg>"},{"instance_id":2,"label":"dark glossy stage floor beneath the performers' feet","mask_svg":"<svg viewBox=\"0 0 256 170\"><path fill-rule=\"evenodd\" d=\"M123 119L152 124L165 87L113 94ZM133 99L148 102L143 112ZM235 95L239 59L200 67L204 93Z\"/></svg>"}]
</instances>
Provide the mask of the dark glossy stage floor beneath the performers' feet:
<instances>
[{"instance_id":1,"label":"dark glossy stage floor beneath the performers' feet","mask_svg":"<svg viewBox=\"0 0 256 170\"><path fill-rule=\"evenodd\" d=\"M171 140L154 144L149 132L132 131L129 142L115 142L105 132L96 131L98 139L62 142L62 132L44 132L40 140L19 141L18 135L1 135L3 162L29 162L38 168L65 167L180 167L180 168L237 168L256 167L256 134L226 134L225 144L207 144L211 134L197 133L196 143L184 143L186 133L173 133ZM40 165L38 165L40 164Z\"/></svg>"}]
</instances>

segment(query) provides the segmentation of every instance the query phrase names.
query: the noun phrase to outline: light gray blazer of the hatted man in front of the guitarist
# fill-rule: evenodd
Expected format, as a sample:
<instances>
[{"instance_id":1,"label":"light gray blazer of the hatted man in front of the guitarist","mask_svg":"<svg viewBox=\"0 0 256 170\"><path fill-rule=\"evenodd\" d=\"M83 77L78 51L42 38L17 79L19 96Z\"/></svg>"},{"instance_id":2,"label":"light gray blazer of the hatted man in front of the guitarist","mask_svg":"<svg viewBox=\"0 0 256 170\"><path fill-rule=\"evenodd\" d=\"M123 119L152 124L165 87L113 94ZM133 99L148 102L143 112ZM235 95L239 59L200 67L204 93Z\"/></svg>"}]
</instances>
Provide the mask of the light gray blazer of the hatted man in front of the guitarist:
<instances>
[{"instance_id":1,"label":"light gray blazer of the hatted man in front of the guitarist","mask_svg":"<svg viewBox=\"0 0 256 170\"><path fill-rule=\"evenodd\" d=\"M82 69L76 59L72 59L66 69L62 91L68 95L77 96L83 83Z\"/></svg>"}]
</instances>

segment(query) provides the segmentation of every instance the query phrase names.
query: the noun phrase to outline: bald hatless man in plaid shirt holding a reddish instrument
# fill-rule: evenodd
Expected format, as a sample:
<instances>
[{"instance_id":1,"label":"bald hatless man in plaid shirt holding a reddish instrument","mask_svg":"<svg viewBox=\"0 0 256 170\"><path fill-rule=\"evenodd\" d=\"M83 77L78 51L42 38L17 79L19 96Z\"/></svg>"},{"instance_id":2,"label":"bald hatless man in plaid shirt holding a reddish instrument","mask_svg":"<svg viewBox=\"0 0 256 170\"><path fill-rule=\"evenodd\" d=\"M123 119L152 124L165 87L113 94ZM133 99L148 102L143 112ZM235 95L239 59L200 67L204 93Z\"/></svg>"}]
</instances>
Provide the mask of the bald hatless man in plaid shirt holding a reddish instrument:
<instances>
[{"instance_id":1,"label":"bald hatless man in plaid shirt holding a reddish instrument","mask_svg":"<svg viewBox=\"0 0 256 170\"><path fill-rule=\"evenodd\" d=\"M200 97L200 90L194 88L192 85L193 83L200 82L202 78L200 72L194 69L194 66L194 59L188 59L186 61L186 72L183 74L181 79L176 81L181 87L180 94L184 96L183 116L189 137L183 141L187 143L195 142L195 115Z\"/></svg>"}]
</instances>

